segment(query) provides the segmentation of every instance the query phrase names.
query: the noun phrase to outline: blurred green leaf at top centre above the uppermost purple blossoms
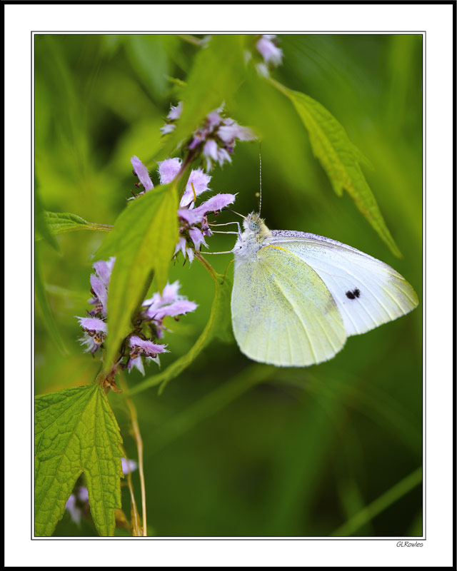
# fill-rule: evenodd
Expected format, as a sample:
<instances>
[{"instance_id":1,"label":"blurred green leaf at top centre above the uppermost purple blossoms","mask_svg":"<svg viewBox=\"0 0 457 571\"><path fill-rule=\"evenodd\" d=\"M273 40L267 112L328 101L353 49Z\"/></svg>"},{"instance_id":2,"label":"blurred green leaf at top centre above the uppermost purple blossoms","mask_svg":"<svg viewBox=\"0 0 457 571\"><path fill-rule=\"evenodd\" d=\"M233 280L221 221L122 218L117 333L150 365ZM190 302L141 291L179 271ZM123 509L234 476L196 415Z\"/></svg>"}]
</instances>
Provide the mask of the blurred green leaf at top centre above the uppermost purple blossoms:
<instances>
[{"instance_id":1,"label":"blurred green leaf at top centre above the uppermost purple blossoms","mask_svg":"<svg viewBox=\"0 0 457 571\"><path fill-rule=\"evenodd\" d=\"M183 111L176 128L166 136L159 158L166 158L191 136L210 111L227 102L243 81L243 36L220 34L196 55L186 86L181 90Z\"/></svg>"}]
</instances>

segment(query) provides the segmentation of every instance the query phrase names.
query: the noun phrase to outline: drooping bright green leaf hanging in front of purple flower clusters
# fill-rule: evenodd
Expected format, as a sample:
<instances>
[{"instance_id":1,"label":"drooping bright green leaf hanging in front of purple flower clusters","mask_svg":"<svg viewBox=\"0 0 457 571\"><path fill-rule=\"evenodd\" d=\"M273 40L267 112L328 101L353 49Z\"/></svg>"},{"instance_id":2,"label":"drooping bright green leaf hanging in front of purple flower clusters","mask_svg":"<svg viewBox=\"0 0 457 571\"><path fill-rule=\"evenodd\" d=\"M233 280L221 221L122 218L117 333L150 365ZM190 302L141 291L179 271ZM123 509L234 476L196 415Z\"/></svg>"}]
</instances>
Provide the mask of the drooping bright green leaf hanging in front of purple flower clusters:
<instances>
[{"instance_id":1,"label":"drooping bright green leaf hanging in front of purple flower clusters","mask_svg":"<svg viewBox=\"0 0 457 571\"><path fill-rule=\"evenodd\" d=\"M144 193L121 212L96 253L98 260L116 256L109 281L106 368L111 367L121 341L131 331L131 316L143 301L151 271L156 290L166 284L178 241L177 208L174 183Z\"/></svg>"}]
</instances>

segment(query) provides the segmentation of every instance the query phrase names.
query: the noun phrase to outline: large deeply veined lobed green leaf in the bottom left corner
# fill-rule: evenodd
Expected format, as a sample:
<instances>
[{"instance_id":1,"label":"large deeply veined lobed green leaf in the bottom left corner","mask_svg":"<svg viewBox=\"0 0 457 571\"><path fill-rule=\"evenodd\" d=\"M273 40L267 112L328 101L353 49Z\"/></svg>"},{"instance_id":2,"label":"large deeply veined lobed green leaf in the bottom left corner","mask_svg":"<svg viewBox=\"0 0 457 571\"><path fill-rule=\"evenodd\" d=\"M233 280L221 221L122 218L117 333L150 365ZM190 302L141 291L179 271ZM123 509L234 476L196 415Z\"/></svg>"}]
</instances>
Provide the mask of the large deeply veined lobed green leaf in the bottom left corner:
<instances>
[{"instance_id":1,"label":"large deeply veined lobed green leaf in the bottom left corner","mask_svg":"<svg viewBox=\"0 0 457 571\"><path fill-rule=\"evenodd\" d=\"M84 472L100 535L121 507L121 435L98 383L35 398L35 535L51 535Z\"/></svg>"}]
</instances>

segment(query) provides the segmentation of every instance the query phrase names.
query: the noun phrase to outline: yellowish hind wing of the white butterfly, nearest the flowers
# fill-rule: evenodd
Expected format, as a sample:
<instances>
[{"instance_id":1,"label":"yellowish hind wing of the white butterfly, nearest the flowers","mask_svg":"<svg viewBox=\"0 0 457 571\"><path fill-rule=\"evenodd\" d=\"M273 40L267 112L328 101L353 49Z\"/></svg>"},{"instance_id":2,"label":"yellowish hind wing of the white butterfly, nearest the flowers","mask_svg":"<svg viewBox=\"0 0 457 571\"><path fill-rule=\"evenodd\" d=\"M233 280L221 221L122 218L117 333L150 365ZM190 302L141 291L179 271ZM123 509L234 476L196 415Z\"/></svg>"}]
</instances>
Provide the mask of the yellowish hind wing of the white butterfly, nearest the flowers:
<instances>
[{"instance_id":1,"label":"yellowish hind wing of the white butterfly, nearest the flowers","mask_svg":"<svg viewBox=\"0 0 457 571\"><path fill-rule=\"evenodd\" d=\"M335 300L316 271L278 246L236 261L231 312L241 351L261 363L321 363L346 340Z\"/></svg>"}]
</instances>

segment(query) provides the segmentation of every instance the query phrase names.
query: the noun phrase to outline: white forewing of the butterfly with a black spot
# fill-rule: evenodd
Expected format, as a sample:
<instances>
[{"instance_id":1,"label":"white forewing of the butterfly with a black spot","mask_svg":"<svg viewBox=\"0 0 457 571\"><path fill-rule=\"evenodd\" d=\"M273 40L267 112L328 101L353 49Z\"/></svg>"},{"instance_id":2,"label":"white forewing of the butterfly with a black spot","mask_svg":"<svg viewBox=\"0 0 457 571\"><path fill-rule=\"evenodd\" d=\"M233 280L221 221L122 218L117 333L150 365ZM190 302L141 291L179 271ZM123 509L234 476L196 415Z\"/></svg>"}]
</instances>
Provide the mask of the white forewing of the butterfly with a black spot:
<instances>
[{"instance_id":1,"label":"white forewing of the butterfly with a black spot","mask_svg":"<svg viewBox=\"0 0 457 571\"><path fill-rule=\"evenodd\" d=\"M272 231L269 243L307 263L325 283L342 315L346 335L365 333L418 305L398 272L341 242L293 231Z\"/></svg>"}]
</instances>

